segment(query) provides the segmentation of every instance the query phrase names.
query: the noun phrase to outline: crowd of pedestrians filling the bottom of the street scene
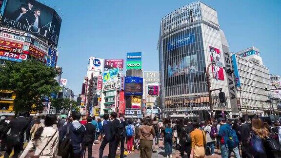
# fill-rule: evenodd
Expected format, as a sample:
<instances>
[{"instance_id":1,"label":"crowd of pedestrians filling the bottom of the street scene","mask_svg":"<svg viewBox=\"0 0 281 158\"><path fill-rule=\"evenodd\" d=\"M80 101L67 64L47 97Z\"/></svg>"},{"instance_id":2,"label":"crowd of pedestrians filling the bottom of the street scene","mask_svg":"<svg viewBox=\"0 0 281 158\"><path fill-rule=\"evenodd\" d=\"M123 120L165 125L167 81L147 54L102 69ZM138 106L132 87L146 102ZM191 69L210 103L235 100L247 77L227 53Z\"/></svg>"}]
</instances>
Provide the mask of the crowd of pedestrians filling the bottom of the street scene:
<instances>
[{"instance_id":1,"label":"crowd of pedestrians filling the bottom of the street scene","mask_svg":"<svg viewBox=\"0 0 281 158\"><path fill-rule=\"evenodd\" d=\"M258 117L246 123L244 118L197 121L195 119L125 119L116 112L102 118L83 117L73 112L67 119L55 115L16 119L0 117L0 150L4 158L92 158L93 145L100 142L99 158L130 157L140 150L141 158L152 158L160 140L166 158L179 150L180 156L204 158L214 155L215 148L222 158L281 157L281 126L270 126ZM24 142L28 141L23 149ZM127 144L125 149L125 143ZM109 153L104 153L108 144Z\"/></svg>"}]
</instances>

